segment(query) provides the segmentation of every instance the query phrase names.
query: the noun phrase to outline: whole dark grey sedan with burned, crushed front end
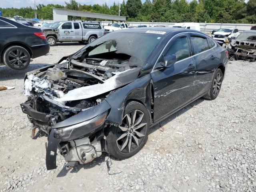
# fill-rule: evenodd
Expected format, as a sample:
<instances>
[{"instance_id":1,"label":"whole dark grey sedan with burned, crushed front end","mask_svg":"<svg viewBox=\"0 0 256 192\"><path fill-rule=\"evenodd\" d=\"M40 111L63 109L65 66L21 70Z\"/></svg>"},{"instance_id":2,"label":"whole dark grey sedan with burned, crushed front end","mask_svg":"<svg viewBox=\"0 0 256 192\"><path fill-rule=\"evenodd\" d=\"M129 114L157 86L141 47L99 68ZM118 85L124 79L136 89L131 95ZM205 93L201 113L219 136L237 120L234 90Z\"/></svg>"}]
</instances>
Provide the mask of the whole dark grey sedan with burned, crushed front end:
<instances>
[{"instance_id":1,"label":"whole dark grey sedan with burned, crushed front end","mask_svg":"<svg viewBox=\"0 0 256 192\"><path fill-rule=\"evenodd\" d=\"M34 138L48 137L47 169L56 168L57 148L68 165L102 152L133 156L150 127L200 97L218 96L227 54L196 30L137 28L29 72L21 108L38 128Z\"/></svg>"}]
</instances>

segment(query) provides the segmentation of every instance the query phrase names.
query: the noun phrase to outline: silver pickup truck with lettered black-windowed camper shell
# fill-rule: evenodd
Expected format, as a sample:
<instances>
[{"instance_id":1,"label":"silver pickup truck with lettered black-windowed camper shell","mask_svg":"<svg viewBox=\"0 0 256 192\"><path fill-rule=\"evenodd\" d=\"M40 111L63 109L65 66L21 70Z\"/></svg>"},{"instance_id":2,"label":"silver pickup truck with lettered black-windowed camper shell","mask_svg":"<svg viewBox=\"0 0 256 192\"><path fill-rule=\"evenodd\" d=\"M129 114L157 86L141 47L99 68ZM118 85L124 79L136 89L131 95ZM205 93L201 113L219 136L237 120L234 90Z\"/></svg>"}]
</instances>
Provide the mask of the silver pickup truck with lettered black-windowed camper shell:
<instances>
[{"instance_id":1,"label":"silver pickup truck with lettered black-windowed camper shell","mask_svg":"<svg viewBox=\"0 0 256 192\"><path fill-rule=\"evenodd\" d=\"M58 21L41 28L50 46L57 42L92 42L104 34L104 28L98 23L79 21Z\"/></svg>"}]
</instances>

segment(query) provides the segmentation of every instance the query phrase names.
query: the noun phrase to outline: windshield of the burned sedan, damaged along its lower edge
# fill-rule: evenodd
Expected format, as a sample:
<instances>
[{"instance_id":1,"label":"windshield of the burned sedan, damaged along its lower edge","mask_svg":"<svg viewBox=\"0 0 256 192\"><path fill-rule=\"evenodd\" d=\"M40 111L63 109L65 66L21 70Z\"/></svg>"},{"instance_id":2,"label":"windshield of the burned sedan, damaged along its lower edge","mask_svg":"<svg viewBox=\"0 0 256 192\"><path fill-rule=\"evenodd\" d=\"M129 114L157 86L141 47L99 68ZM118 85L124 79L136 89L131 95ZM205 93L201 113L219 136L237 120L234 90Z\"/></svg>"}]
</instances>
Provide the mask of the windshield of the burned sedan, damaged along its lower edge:
<instances>
[{"instance_id":1,"label":"windshield of the burned sedan, damaged along its lower edge","mask_svg":"<svg viewBox=\"0 0 256 192\"><path fill-rule=\"evenodd\" d=\"M119 58L125 54L134 65L144 66L148 56L163 37L162 34L154 33L112 32L94 40L74 54L73 58L83 60L88 49L90 58L104 58L107 56L106 53Z\"/></svg>"}]
</instances>

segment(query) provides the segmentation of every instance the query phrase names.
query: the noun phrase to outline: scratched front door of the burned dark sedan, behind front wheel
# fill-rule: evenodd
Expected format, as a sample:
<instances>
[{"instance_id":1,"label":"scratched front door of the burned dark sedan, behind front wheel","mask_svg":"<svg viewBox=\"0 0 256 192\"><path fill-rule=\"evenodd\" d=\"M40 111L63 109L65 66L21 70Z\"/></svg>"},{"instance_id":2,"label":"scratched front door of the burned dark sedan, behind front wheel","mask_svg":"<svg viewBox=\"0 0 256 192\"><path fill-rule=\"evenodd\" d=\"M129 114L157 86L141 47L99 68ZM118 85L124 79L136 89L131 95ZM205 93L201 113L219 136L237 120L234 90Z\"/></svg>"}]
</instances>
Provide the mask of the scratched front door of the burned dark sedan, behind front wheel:
<instances>
[{"instance_id":1,"label":"scratched front door of the burned dark sedan, behind front wheel","mask_svg":"<svg viewBox=\"0 0 256 192\"><path fill-rule=\"evenodd\" d=\"M154 86L154 121L163 118L193 98L195 63L186 34L176 36L168 44L163 56L176 55L170 68L152 71ZM157 62L162 62L161 59Z\"/></svg>"}]
</instances>

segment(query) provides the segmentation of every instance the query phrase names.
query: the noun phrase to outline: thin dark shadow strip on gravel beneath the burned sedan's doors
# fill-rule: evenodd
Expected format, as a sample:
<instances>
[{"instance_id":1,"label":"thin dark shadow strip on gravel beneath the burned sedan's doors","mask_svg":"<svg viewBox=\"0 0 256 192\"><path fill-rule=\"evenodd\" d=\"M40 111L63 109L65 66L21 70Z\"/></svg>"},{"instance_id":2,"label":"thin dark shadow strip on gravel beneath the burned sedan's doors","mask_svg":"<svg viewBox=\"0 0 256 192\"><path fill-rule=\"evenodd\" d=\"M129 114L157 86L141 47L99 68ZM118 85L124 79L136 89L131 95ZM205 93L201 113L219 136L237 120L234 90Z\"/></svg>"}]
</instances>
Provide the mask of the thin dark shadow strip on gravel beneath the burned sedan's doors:
<instances>
[{"instance_id":1,"label":"thin dark shadow strip on gravel beneath the burned sedan's doors","mask_svg":"<svg viewBox=\"0 0 256 192\"><path fill-rule=\"evenodd\" d=\"M162 120L161 122L159 122L158 124L156 124L154 127L150 128L148 134L152 134L153 132L158 130L160 128L160 126L164 126L164 125L168 124L169 122L174 120L176 117L182 115L183 113L185 113L186 111L190 110L191 108L200 104L203 101L205 101L205 99L203 99L203 98L199 98L198 100L195 100L194 102L192 102L188 106L182 108L181 110L177 111L176 113L172 114L168 118L166 118L166 119Z\"/></svg>"}]
</instances>

